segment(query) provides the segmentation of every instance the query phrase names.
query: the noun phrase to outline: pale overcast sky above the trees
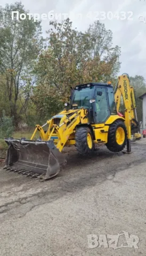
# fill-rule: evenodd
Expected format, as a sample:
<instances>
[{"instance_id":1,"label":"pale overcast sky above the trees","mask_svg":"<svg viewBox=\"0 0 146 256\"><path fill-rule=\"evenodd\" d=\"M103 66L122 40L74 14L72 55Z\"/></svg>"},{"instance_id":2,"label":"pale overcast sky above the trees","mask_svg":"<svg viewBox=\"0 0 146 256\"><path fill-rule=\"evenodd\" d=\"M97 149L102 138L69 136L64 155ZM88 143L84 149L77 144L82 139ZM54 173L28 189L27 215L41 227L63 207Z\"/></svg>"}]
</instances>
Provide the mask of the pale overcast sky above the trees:
<instances>
[{"instance_id":1,"label":"pale overcast sky above the trees","mask_svg":"<svg viewBox=\"0 0 146 256\"><path fill-rule=\"evenodd\" d=\"M1 0L0 5L4 7L6 3L11 4L15 1ZM60 21L63 17L70 17L72 26L81 31L85 31L91 23L99 19L105 24L106 29L111 29L113 46L121 47L119 75L123 73L128 73L129 76L142 75L146 79L146 0L22 0L21 2L29 13L41 15L52 11L54 17L59 17ZM50 19L42 21L43 35L50 28L49 22Z\"/></svg>"}]
</instances>

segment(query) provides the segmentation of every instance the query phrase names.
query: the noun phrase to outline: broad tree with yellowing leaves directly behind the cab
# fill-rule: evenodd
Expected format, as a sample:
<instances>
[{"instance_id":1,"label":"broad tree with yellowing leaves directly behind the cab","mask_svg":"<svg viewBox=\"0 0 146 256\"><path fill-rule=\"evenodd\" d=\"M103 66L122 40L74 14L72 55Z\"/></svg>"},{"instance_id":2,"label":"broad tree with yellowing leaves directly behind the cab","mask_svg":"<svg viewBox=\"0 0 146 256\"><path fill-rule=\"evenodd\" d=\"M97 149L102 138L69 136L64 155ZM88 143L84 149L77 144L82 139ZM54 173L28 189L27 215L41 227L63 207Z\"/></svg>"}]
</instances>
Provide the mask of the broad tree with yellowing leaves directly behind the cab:
<instances>
[{"instance_id":1,"label":"broad tree with yellowing leaves directly behind the cab","mask_svg":"<svg viewBox=\"0 0 146 256\"><path fill-rule=\"evenodd\" d=\"M94 26L82 33L72 29L69 19L62 23L51 21L50 25L52 28L47 32L49 37L35 68L39 79L33 97L38 109L46 114L48 111L54 114L63 106L63 102L68 100L70 87L106 81L116 76L120 54L118 46L111 48L112 34L100 22L94 26L102 28L104 47L98 41L94 42L93 47L95 36L99 33L96 31L93 35ZM40 90L43 93L40 94Z\"/></svg>"}]
</instances>

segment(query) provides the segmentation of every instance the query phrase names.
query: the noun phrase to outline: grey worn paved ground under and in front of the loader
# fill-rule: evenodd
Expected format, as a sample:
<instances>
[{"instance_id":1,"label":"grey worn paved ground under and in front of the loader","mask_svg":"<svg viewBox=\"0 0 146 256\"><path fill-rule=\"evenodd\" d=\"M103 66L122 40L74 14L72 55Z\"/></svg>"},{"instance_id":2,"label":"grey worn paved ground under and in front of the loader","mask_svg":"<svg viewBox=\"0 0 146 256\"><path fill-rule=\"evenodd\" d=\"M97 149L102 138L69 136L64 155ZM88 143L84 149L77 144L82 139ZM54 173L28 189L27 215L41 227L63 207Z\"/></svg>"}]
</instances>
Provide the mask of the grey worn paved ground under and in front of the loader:
<instances>
[{"instance_id":1,"label":"grey worn paved ground under and in front of the loader","mask_svg":"<svg viewBox=\"0 0 146 256\"><path fill-rule=\"evenodd\" d=\"M130 155L102 146L80 158L73 149L45 182L0 171L0 255L146 255L146 139ZM139 237L139 249L88 248L87 235L123 230Z\"/></svg>"}]
</instances>

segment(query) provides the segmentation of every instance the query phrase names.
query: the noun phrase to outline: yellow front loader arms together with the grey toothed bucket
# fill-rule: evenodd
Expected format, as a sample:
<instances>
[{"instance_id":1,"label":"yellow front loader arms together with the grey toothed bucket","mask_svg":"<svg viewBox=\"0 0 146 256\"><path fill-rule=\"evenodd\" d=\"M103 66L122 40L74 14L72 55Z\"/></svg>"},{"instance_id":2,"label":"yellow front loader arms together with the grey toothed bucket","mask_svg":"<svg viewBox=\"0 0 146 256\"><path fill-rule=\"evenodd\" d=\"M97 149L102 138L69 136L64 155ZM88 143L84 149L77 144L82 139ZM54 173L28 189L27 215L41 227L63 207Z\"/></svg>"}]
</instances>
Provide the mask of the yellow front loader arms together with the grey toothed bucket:
<instances>
[{"instance_id":1,"label":"yellow front loader arms together with the grey toothed bucket","mask_svg":"<svg viewBox=\"0 0 146 256\"><path fill-rule=\"evenodd\" d=\"M74 140L76 126L84 123L88 123L87 109L64 109L43 126L36 125L30 140L5 139L9 149L4 168L42 180L54 177L66 163L60 152L69 140ZM40 139L35 140L37 131Z\"/></svg>"}]
</instances>

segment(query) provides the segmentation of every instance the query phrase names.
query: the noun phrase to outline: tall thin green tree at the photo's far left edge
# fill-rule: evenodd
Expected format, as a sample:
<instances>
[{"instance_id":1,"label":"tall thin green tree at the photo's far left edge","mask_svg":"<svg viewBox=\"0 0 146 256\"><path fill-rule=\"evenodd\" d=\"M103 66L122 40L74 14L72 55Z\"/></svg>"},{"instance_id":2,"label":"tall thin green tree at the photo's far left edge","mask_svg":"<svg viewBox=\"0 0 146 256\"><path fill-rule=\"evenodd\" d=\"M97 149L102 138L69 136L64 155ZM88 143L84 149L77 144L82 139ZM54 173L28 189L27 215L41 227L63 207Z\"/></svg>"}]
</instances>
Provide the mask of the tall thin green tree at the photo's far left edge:
<instances>
[{"instance_id":1,"label":"tall thin green tree at the photo's far left edge","mask_svg":"<svg viewBox=\"0 0 146 256\"><path fill-rule=\"evenodd\" d=\"M39 53L41 27L40 21L34 22L28 16L25 20L12 20L12 11L19 11L19 14L29 11L24 9L21 2L0 7L0 75L3 76L0 85L1 90L5 88L10 115L14 117L15 126L18 126L22 110L25 110L23 105L27 105L29 98L28 93L22 105L19 93L22 87L28 92L26 81L29 80L30 85L30 78L33 77L31 71Z\"/></svg>"}]
</instances>

